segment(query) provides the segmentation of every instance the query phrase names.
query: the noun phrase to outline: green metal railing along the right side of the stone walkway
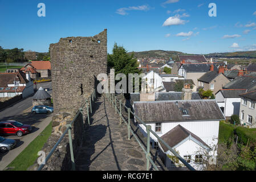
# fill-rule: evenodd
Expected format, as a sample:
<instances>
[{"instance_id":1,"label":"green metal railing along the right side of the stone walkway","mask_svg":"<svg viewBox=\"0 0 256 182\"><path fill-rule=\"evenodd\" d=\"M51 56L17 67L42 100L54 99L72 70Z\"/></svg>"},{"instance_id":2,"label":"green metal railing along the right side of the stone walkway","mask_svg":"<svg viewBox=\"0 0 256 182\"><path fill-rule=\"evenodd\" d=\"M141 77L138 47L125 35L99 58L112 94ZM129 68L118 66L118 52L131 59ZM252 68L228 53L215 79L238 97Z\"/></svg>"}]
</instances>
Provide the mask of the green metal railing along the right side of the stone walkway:
<instances>
[{"instance_id":1,"label":"green metal railing along the right side of the stone walkway","mask_svg":"<svg viewBox=\"0 0 256 182\"><path fill-rule=\"evenodd\" d=\"M127 106L125 106L121 100L117 100L115 94L111 94L111 93L105 93L104 94L105 97L107 97L108 101L111 102L112 106L115 107L116 113L119 113L119 117L120 117L120 123L123 120L124 123L127 125L127 129L128 129L128 139L131 138L131 133L133 135L133 137L137 140L137 142L139 143L140 147L142 148L142 150L145 153L146 159L147 159L147 171L149 171L149 163L152 164L153 168L157 171L159 171L159 169L156 167L156 164L153 162L153 160L151 159L151 154L150 154L150 135L151 133L153 135L155 135L155 137L159 140L159 142L161 142L162 144L164 144L165 147L168 148L168 150L170 150L172 152L172 154L174 156L176 156L178 158L178 160L180 160L188 169L190 169L191 171L196 171L196 169L194 169L192 166L190 166L190 164L188 162L186 162L180 155L177 154L177 152L175 150L173 150L172 147L170 147L164 140L162 140L153 130L151 130L151 126L146 125L143 121L141 121L141 119L139 117L137 117L137 115L135 113L133 113L131 111L131 108L128 108ZM119 103L119 104L117 104ZM119 109L118 109L119 107ZM124 118L123 114L122 114L122 107L124 107L125 109L127 109L128 111L128 122L127 120ZM135 135L135 133L133 132L133 130L131 129L131 114L133 115L134 118L137 119L137 121L139 121L142 125L145 126L145 128L147 129L147 148L143 147L143 144L141 144L140 140L137 138L137 136Z\"/></svg>"}]
</instances>

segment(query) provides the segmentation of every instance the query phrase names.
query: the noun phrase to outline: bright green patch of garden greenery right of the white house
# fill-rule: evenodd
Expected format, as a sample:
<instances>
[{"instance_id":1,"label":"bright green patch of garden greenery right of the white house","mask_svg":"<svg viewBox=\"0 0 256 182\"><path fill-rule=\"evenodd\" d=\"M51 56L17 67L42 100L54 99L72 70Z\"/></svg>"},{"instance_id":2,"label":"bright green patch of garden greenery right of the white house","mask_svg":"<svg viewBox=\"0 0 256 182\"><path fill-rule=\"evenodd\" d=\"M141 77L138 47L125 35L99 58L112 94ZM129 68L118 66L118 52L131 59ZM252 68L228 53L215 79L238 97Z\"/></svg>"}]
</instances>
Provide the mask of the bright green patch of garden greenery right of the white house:
<instances>
[{"instance_id":1,"label":"bright green patch of garden greenery right of the white house","mask_svg":"<svg viewBox=\"0 0 256 182\"><path fill-rule=\"evenodd\" d=\"M224 143L229 139L234 138L234 125L231 125L229 123L225 123L224 121L220 122L220 128L219 128L219 137L218 142Z\"/></svg>"}]
</instances>

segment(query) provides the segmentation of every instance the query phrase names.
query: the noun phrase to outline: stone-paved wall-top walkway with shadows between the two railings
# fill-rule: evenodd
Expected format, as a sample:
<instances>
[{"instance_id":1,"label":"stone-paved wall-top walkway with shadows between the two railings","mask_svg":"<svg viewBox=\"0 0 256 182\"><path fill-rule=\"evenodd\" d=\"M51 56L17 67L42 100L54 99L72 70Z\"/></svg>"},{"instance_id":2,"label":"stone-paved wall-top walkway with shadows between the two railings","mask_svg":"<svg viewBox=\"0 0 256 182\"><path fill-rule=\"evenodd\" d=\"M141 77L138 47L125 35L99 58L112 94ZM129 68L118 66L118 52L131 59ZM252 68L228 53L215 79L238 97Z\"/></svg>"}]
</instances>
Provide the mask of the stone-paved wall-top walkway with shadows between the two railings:
<instances>
[{"instance_id":1,"label":"stone-paved wall-top walkway with shadows between the two railings","mask_svg":"<svg viewBox=\"0 0 256 182\"><path fill-rule=\"evenodd\" d=\"M128 140L125 124L103 96L86 129L86 137L76 157L76 170L82 171L145 171L146 160L139 144Z\"/></svg>"}]
</instances>

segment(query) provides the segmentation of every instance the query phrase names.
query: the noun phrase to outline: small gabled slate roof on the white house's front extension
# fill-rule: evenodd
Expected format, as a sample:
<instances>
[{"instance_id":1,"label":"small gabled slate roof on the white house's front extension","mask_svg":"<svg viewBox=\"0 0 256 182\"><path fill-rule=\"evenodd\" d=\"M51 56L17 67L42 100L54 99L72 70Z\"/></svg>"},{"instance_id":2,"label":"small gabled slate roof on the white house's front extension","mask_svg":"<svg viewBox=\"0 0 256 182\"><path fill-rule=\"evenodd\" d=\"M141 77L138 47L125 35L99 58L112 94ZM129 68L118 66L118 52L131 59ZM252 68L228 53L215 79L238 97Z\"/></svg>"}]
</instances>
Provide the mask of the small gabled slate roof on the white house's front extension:
<instances>
[{"instance_id":1,"label":"small gabled slate roof on the white house's front extension","mask_svg":"<svg viewBox=\"0 0 256 182\"><path fill-rule=\"evenodd\" d=\"M174 147L178 143L182 142L182 140L188 138L189 135L196 139L198 142L204 144L204 146L209 147L200 137L197 137L197 135L193 134L181 125L177 125L172 130L168 131L168 133L162 135L161 139L164 140L170 147ZM162 144L161 142L160 144L164 152L168 151L168 148L165 147L164 144Z\"/></svg>"}]
</instances>

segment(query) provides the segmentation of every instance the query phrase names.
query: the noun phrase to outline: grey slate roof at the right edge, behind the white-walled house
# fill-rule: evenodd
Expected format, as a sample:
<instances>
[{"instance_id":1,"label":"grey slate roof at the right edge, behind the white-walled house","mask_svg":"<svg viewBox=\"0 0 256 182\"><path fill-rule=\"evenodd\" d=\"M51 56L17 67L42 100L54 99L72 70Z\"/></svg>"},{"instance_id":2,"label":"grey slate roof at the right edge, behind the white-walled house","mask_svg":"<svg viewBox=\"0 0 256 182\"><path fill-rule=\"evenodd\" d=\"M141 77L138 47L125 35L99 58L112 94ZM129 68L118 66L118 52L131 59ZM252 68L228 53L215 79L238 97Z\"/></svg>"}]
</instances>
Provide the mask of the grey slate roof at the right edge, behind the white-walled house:
<instances>
[{"instance_id":1,"label":"grey slate roof at the right edge, behind the white-walled house","mask_svg":"<svg viewBox=\"0 0 256 182\"><path fill-rule=\"evenodd\" d=\"M256 77L253 76L239 76L223 86L223 89L247 89L248 91L254 88L256 88Z\"/></svg>"}]
</instances>

